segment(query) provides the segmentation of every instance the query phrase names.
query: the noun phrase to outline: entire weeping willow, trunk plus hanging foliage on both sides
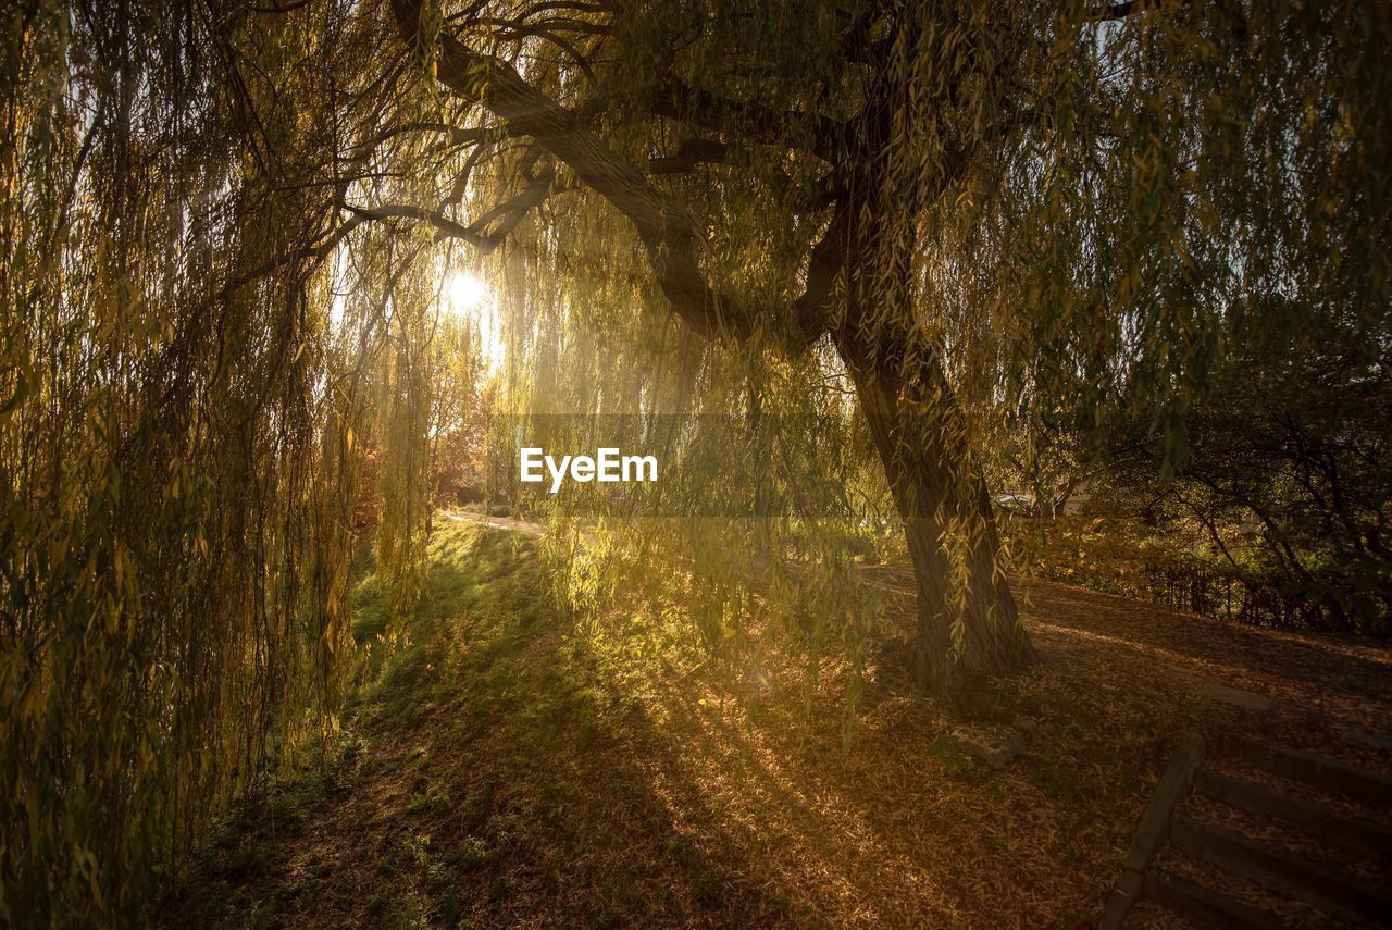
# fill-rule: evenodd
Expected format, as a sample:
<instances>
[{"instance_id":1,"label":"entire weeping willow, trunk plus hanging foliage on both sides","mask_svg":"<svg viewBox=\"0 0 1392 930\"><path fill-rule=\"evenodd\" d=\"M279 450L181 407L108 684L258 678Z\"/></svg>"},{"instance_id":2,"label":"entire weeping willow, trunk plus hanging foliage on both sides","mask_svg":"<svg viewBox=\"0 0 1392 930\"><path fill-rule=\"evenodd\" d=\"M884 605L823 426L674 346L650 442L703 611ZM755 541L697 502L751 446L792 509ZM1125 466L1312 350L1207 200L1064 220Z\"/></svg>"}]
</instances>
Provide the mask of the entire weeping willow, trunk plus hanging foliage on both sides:
<instances>
[{"instance_id":1,"label":"entire weeping willow, trunk plus hanging foliage on both sides","mask_svg":"<svg viewBox=\"0 0 1392 930\"><path fill-rule=\"evenodd\" d=\"M949 696L1031 657L983 480L1012 423L1139 418L1182 468L1272 315L1388 377L1385 4L26 0L0 28L8 922L127 911L331 728L367 432L416 590L451 246L507 280L518 379L646 351L604 379L635 409L767 405L818 489L876 462Z\"/></svg>"}]
</instances>

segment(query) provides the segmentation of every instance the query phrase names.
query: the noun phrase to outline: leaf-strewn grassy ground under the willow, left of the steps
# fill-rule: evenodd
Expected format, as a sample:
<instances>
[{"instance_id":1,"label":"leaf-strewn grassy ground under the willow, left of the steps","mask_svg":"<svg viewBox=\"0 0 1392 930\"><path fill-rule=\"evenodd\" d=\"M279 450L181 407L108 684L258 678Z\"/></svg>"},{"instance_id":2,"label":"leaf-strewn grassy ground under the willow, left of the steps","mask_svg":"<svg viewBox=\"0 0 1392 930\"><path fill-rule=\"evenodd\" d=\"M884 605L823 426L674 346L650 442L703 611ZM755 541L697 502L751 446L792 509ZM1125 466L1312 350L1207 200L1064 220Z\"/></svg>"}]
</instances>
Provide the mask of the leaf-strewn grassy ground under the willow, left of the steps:
<instances>
[{"instance_id":1,"label":"leaf-strewn grassy ground under the willow, left of the steps","mask_svg":"<svg viewBox=\"0 0 1392 930\"><path fill-rule=\"evenodd\" d=\"M444 523L393 639L365 578L342 752L232 819L164 923L1087 926L1175 735L1265 725L1162 671L1192 649L1250 654L1257 675L1264 640L1208 647L1229 633L1045 586L1047 659L1002 684L1033 721L1011 767L877 686L845 752L835 668L809 716L773 643L742 674L675 674L670 647L572 626L543 581L525 536Z\"/></svg>"}]
</instances>

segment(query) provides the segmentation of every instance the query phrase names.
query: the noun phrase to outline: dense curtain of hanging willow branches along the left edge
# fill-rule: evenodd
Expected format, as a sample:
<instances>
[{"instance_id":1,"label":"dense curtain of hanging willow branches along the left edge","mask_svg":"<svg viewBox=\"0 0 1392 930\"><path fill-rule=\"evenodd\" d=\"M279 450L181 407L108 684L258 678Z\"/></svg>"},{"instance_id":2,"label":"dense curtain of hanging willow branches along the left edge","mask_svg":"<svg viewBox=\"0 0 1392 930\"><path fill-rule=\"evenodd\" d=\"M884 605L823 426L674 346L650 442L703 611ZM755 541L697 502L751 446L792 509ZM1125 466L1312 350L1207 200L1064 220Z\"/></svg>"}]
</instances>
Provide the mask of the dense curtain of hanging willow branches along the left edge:
<instances>
[{"instance_id":1,"label":"dense curtain of hanging willow branches along the left edge","mask_svg":"<svg viewBox=\"0 0 1392 930\"><path fill-rule=\"evenodd\" d=\"M422 245L323 238L361 159L301 102L340 99L370 19L25 3L0 29L0 923L81 926L327 745L358 437L422 370L422 287L383 281Z\"/></svg>"}]
</instances>

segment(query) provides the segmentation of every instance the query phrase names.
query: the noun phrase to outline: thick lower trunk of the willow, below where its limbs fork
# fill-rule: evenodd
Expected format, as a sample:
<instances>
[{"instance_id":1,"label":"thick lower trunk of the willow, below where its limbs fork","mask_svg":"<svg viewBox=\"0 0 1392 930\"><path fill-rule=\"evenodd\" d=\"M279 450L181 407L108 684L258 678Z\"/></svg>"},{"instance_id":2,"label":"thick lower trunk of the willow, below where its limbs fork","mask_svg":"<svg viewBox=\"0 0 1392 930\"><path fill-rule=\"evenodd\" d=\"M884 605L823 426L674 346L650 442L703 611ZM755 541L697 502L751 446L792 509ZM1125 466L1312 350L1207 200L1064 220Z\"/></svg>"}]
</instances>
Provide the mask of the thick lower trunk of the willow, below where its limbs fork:
<instances>
[{"instance_id":1,"label":"thick lower trunk of the willow, below where its limbs fork","mask_svg":"<svg viewBox=\"0 0 1392 930\"><path fill-rule=\"evenodd\" d=\"M927 692L959 698L963 672L1023 668L1034 649L999 569L999 536L966 423L934 351L885 351L910 338L834 333L855 380L917 582L913 663Z\"/></svg>"}]
</instances>

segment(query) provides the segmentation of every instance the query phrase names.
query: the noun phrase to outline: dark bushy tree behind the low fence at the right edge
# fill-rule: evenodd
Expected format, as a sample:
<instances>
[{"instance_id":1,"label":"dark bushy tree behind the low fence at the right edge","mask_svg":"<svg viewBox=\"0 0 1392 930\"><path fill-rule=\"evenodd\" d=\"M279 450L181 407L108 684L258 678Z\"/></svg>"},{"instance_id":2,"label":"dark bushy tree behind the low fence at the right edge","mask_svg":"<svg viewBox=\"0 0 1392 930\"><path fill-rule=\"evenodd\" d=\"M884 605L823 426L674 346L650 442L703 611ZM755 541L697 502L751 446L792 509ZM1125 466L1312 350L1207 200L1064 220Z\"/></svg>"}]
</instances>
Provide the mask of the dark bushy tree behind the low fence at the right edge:
<instances>
[{"instance_id":1,"label":"dark bushy tree behind the low fence at the right edge","mask_svg":"<svg viewBox=\"0 0 1392 930\"><path fill-rule=\"evenodd\" d=\"M1175 498L1235 574L1274 583L1335 628L1386 633L1392 366L1360 329L1308 333L1318 308L1265 304L1235 308L1228 356L1185 418L1190 454L1173 480L1157 486L1144 423L1111 437L1108 471L1143 497Z\"/></svg>"}]
</instances>

